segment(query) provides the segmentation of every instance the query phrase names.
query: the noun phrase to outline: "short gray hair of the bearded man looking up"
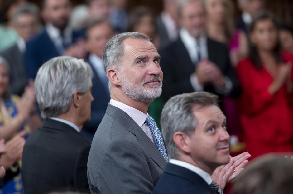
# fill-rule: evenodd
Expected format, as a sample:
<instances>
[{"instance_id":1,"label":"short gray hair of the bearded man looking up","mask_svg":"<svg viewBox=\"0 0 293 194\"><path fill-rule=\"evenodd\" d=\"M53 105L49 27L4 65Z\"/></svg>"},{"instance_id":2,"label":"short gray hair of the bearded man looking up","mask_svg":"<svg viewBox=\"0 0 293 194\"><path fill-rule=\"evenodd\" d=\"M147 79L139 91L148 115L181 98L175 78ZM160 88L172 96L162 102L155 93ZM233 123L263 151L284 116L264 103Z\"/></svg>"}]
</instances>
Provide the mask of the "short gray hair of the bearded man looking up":
<instances>
[{"instance_id":1,"label":"short gray hair of the bearded man looking up","mask_svg":"<svg viewBox=\"0 0 293 194\"><path fill-rule=\"evenodd\" d=\"M124 32L110 38L110 40L105 45L105 48L103 51L103 57L102 57L104 70L106 74L109 68L116 68L120 70L121 58L124 54L123 41L128 38L151 41L150 37L138 32ZM108 85L110 90L111 89L110 81L108 82Z\"/></svg>"}]
</instances>

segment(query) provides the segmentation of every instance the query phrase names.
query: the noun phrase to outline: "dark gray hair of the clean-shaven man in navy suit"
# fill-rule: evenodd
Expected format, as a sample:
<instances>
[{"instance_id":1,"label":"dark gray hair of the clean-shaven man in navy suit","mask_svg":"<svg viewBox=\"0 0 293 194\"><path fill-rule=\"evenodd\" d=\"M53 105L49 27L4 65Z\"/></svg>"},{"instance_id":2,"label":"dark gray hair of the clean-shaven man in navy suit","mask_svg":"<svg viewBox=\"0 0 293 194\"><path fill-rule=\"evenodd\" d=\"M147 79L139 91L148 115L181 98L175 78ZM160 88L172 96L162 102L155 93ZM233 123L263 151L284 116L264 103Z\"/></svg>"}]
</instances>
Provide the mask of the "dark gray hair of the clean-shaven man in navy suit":
<instances>
[{"instance_id":1,"label":"dark gray hair of the clean-shaven man in navy suit","mask_svg":"<svg viewBox=\"0 0 293 194\"><path fill-rule=\"evenodd\" d=\"M161 114L162 136L170 158L177 158L177 146L173 141L175 132L194 133L198 121L193 113L194 107L218 106L218 96L209 92L184 93L171 97Z\"/></svg>"}]
</instances>

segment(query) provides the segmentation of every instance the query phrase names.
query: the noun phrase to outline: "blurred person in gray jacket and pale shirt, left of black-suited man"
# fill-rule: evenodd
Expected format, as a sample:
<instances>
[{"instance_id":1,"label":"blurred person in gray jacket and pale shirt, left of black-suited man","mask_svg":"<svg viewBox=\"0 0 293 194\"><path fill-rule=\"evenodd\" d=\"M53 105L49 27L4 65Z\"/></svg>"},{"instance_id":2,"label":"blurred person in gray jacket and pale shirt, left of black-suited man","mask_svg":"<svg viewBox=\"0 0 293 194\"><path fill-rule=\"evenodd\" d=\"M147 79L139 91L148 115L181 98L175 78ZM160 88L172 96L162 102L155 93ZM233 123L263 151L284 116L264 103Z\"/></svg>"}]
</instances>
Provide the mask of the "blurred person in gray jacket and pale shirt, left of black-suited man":
<instances>
[{"instance_id":1,"label":"blurred person in gray jacket and pale shirt, left of black-suited man","mask_svg":"<svg viewBox=\"0 0 293 194\"><path fill-rule=\"evenodd\" d=\"M179 0L163 0L163 11L156 21L161 47L167 46L178 37L180 30L177 16L178 2Z\"/></svg>"}]
</instances>

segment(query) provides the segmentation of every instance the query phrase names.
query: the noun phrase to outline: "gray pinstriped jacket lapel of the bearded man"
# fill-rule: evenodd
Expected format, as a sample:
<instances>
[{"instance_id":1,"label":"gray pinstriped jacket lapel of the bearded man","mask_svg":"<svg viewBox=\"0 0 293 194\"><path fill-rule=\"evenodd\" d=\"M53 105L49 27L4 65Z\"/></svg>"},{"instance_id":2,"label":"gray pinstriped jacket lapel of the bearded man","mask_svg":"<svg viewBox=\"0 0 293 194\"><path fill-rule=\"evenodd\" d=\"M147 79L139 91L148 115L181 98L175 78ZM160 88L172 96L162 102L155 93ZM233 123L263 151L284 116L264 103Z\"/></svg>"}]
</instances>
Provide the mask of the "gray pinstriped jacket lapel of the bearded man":
<instances>
[{"instance_id":1,"label":"gray pinstriped jacket lapel of the bearded man","mask_svg":"<svg viewBox=\"0 0 293 194\"><path fill-rule=\"evenodd\" d=\"M106 113L116 118L129 132L133 133L151 159L164 170L166 166L164 157L142 128L126 112L109 103Z\"/></svg>"}]
</instances>

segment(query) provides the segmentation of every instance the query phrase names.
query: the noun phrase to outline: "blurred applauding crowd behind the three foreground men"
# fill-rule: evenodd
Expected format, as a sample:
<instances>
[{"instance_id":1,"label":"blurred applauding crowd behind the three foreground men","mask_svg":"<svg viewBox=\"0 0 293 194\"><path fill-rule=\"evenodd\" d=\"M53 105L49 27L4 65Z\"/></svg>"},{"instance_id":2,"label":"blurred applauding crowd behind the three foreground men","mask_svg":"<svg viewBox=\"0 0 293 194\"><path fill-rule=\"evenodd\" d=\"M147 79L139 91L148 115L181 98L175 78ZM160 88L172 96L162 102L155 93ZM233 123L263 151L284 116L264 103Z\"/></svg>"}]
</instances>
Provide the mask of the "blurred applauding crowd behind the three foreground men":
<instances>
[{"instance_id":1,"label":"blurred applauding crowd behind the three foreground men","mask_svg":"<svg viewBox=\"0 0 293 194\"><path fill-rule=\"evenodd\" d=\"M232 152L247 151L253 159L293 151L293 28L265 10L263 0L237 0L238 18L232 0L163 0L157 16L144 5L129 10L127 0L75 7L70 0L43 0L41 7L0 2L2 193L23 192L23 146L42 122L34 93L38 69L62 55L89 63L92 119L81 133L92 140L110 101L103 49L121 32L146 34L161 55L162 95L148 111L156 123L170 97L207 91L220 96Z\"/></svg>"}]
</instances>

